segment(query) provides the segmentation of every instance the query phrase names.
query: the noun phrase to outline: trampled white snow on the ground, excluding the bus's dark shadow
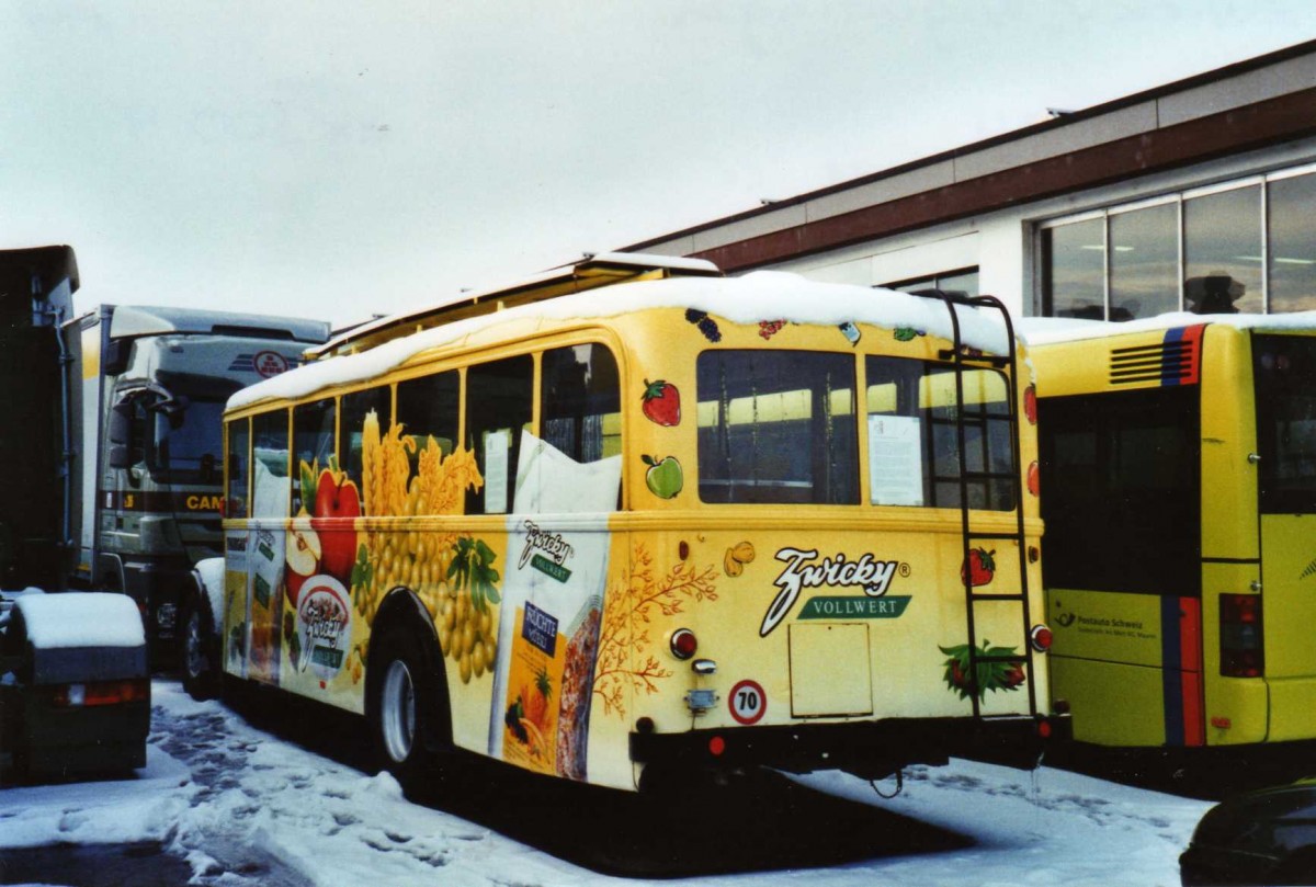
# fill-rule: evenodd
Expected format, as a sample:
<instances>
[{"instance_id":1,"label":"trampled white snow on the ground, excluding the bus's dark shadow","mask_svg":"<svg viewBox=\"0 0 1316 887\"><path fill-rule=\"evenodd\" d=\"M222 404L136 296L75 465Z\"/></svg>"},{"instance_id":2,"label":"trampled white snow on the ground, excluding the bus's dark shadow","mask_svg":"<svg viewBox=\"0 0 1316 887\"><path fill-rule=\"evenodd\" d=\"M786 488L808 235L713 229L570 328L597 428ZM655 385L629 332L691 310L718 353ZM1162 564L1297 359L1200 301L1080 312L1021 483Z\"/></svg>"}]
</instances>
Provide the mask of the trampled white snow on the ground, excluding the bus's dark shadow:
<instances>
[{"instance_id":1,"label":"trampled white snow on the ground, excluding the bus's dark shadow","mask_svg":"<svg viewBox=\"0 0 1316 887\"><path fill-rule=\"evenodd\" d=\"M193 883L216 887L268 880L253 870L254 858L274 859L322 887L671 883L605 878L411 804L391 776L363 775L270 737L218 703L192 701L176 684L157 682L153 699L157 732L150 766L137 782L3 790L0 848L158 840L191 862ZM1046 767L1024 773L963 761L911 769L892 799L840 773L797 782L940 825L973 845L926 851L901 848L894 834L890 855L683 883L1170 887L1179 883L1178 855L1211 805ZM886 780L878 788L895 786ZM572 821L562 809L526 807L525 816L558 816L563 828Z\"/></svg>"}]
</instances>

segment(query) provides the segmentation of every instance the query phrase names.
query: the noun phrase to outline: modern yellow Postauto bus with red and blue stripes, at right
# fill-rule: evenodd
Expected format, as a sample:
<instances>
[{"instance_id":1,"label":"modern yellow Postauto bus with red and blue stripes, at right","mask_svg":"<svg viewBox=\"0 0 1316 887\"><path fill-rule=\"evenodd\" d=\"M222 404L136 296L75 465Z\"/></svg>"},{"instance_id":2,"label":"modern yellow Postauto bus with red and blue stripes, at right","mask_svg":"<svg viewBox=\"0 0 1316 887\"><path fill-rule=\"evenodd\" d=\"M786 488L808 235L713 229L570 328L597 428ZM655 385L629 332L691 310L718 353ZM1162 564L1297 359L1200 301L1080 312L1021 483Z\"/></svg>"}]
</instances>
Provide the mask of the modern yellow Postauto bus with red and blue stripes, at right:
<instances>
[{"instance_id":1,"label":"modern yellow Postauto bus with red and blue stripes, at right","mask_svg":"<svg viewBox=\"0 0 1316 887\"><path fill-rule=\"evenodd\" d=\"M1316 315L1028 328L1074 738L1316 738Z\"/></svg>"}]
</instances>

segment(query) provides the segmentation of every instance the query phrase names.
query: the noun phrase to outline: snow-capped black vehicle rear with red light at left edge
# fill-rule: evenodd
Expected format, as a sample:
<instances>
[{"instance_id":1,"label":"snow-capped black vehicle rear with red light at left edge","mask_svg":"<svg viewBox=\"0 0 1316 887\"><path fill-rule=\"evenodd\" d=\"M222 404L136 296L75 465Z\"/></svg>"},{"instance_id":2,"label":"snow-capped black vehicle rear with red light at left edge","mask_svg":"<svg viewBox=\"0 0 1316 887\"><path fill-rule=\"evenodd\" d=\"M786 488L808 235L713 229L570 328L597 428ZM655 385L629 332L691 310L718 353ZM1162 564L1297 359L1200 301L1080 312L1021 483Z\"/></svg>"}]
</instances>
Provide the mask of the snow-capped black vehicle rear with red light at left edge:
<instances>
[{"instance_id":1,"label":"snow-capped black vehicle rear with red light at left edge","mask_svg":"<svg viewBox=\"0 0 1316 887\"><path fill-rule=\"evenodd\" d=\"M146 766L150 692L130 597L28 592L3 605L0 771L63 778Z\"/></svg>"}]
</instances>

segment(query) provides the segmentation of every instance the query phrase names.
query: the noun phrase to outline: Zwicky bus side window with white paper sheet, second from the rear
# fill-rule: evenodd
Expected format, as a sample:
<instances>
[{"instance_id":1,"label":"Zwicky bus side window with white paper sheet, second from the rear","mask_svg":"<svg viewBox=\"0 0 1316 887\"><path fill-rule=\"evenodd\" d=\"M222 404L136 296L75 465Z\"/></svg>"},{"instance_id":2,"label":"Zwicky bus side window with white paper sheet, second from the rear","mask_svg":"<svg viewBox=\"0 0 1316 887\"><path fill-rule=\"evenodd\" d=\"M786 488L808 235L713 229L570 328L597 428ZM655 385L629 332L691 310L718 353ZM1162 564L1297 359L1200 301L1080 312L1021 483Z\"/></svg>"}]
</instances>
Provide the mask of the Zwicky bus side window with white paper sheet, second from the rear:
<instances>
[{"instance_id":1,"label":"Zwicky bus side window with white paper sheet, second from the rear","mask_svg":"<svg viewBox=\"0 0 1316 887\"><path fill-rule=\"evenodd\" d=\"M529 354L472 366L466 371L466 442L484 486L466 492L467 515L505 515L516 490L521 430L530 426L534 358Z\"/></svg>"}]
</instances>

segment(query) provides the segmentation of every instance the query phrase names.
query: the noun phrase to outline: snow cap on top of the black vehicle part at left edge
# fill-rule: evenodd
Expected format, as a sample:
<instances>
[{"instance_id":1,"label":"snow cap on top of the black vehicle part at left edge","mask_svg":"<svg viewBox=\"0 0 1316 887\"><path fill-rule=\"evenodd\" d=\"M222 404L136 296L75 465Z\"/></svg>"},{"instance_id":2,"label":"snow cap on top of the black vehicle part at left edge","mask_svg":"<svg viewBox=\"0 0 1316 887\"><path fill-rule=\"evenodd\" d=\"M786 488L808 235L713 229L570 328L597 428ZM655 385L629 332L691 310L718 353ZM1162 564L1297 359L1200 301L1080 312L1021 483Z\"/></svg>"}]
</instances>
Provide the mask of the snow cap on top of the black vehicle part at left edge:
<instances>
[{"instance_id":1,"label":"snow cap on top of the black vehicle part at left edge","mask_svg":"<svg viewBox=\"0 0 1316 887\"><path fill-rule=\"evenodd\" d=\"M89 646L142 646L142 615L128 595L71 591L24 595L16 604L38 650Z\"/></svg>"}]
</instances>

